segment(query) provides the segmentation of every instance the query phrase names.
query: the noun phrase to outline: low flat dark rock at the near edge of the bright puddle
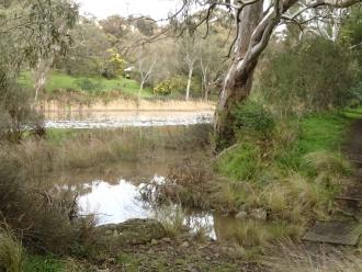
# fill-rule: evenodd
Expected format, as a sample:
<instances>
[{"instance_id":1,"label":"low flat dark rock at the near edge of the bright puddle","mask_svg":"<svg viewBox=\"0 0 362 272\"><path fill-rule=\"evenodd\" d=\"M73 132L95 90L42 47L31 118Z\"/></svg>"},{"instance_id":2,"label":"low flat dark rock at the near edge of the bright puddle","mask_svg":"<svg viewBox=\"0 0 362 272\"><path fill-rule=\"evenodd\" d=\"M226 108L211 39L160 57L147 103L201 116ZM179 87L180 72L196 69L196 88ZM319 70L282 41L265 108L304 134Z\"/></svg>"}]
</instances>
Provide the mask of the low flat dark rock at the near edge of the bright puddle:
<instances>
[{"instance_id":1,"label":"low flat dark rock at the near edge of the bright puddle","mask_svg":"<svg viewBox=\"0 0 362 272\"><path fill-rule=\"evenodd\" d=\"M166 236L162 225L154 219L131 219L95 229L94 243L100 251L117 253L126 245L145 245Z\"/></svg>"}]
</instances>

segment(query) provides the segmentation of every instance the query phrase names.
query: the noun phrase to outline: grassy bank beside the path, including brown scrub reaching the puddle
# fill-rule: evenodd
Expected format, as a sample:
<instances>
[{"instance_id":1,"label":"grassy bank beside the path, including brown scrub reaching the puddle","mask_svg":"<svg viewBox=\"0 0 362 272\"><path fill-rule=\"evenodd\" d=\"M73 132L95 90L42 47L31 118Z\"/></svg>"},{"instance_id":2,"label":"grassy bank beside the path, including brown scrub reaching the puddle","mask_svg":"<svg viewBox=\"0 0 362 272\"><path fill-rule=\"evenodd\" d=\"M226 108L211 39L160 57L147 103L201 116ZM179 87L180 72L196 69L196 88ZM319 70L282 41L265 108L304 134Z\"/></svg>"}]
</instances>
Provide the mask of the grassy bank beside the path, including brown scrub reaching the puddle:
<instances>
[{"instance_id":1,"label":"grassy bank beside the path, including brown scrub reaching the puddle","mask_svg":"<svg viewBox=\"0 0 362 272\"><path fill-rule=\"evenodd\" d=\"M248 248L298 240L315 220L337 216L335 197L353 171L344 139L352 120L362 117L359 109L274 120L265 133L259 113L251 125L242 120L237 143L212 165L180 167L169 177L177 185L156 188L158 201L234 215L240 225L230 233Z\"/></svg>"}]
</instances>

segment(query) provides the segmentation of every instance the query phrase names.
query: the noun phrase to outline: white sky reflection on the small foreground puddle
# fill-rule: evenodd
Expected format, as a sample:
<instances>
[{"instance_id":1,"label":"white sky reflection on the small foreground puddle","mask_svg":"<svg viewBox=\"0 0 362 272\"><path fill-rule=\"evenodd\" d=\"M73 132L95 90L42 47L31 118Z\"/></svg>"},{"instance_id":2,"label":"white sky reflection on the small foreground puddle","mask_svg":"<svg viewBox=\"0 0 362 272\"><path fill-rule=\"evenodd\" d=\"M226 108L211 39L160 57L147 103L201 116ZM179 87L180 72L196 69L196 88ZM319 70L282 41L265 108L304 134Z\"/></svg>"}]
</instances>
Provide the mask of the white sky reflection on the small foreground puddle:
<instances>
[{"instance_id":1,"label":"white sky reflection on the small foreground puddle","mask_svg":"<svg viewBox=\"0 0 362 272\"><path fill-rule=\"evenodd\" d=\"M155 175L154 181L163 182L165 178ZM144 184L135 185L124 179L117 184L110 184L105 181L93 181L84 184L84 189L90 192L80 196L79 205L83 213L94 213L100 225L109 223L122 223L133 218L155 218L162 211L155 208L142 201L140 189ZM172 207L176 213L176 206ZM168 209L166 216L172 216L172 211ZM196 233L200 229L206 233L210 238L216 239L214 229L214 216L211 213L188 213L183 224Z\"/></svg>"}]
</instances>

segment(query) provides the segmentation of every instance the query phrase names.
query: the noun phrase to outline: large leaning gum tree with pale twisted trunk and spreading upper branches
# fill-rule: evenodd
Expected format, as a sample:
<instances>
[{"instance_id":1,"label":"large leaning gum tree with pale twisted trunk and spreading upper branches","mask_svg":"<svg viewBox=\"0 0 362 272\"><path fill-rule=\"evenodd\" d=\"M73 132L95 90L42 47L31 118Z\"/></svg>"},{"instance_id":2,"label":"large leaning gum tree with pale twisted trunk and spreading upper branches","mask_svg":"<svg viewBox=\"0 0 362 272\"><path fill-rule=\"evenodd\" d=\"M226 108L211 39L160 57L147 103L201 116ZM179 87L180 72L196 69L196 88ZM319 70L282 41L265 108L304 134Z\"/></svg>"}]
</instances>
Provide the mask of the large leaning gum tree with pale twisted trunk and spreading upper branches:
<instances>
[{"instance_id":1,"label":"large leaning gum tree with pale twisted trunk and spreading upper branches","mask_svg":"<svg viewBox=\"0 0 362 272\"><path fill-rule=\"evenodd\" d=\"M203 23L210 24L213 12L218 8L229 11L234 18L234 42L230 47L230 65L227 70L219 101L215 113L215 132L223 141L233 140L234 106L245 101L252 88L252 78L260 55L265 49L276 26L283 23L304 25L305 14L328 7L344 9L358 4L362 0L185 0L180 10L182 19L186 18L188 27L196 29ZM204 13L196 13L194 7L203 9ZM313 20L310 18L308 21ZM207 27L208 29L208 27ZM207 31L206 31L207 32Z\"/></svg>"}]
</instances>

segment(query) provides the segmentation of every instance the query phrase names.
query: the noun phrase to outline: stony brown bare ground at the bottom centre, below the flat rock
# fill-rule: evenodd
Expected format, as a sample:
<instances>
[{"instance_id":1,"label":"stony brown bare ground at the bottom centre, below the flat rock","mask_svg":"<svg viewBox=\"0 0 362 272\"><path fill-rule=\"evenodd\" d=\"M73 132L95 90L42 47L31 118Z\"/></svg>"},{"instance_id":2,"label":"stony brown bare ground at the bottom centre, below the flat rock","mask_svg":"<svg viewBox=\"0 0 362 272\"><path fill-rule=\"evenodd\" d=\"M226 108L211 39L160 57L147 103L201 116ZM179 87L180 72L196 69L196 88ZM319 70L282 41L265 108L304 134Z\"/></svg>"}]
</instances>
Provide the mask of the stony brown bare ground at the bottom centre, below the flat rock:
<instances>
[{"instance_id":1,"label":"stony brown bare ground at the bottom centre, below the flat rock","mask_svg":"<svg viewBox=\"0 0 362 272\"><path fill-rule=\"evenodd\" d=\"M94 271L261 272L246 262L240 249L217 241L163 238L147 245L126 246L116 258L101 261Z\"/></svg>"}]
</instances>

